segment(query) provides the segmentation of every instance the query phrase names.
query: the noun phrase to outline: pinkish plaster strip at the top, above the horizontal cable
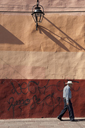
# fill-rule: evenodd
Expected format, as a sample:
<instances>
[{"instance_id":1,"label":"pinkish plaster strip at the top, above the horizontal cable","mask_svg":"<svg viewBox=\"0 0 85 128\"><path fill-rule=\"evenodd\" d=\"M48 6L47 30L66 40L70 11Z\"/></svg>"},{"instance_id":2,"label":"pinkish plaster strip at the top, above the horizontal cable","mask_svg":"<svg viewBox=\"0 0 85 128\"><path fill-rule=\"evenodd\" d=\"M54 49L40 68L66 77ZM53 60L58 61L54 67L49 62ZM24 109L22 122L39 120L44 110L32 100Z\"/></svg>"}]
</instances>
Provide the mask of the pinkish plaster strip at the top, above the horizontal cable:
<instances>
[{"instance_id":1,"label":"pinkish plaster strip at the top, above the horizontal cable","mask_svg":"<svg viewBox=\"0 0 85 128\"><path fill-rule=\"evenodd\" d=\"M0 0L0 10L31 11L37 0ZM85 11L84 0L40 0L45 11Z\"/></svg>"}]
</instances>

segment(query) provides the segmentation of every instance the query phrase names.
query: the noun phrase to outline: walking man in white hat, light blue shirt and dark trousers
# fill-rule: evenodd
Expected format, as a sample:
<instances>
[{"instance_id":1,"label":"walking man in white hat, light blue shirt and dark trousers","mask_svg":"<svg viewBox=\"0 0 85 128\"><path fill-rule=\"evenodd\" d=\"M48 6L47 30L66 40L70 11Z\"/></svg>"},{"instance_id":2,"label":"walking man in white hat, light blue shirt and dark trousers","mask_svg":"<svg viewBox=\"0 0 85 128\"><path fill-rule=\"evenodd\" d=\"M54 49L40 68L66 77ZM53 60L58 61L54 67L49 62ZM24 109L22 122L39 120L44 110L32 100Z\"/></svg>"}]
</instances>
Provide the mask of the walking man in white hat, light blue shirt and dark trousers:
<instances>
[{"instance_id":1,"label":"walking man in white hat, light blue shirt and dark trousers","mask_svg":"<svg viewBox=\"0 0 85 128\"><path fill-rule=\"evenodd\" d=\"M71 90L70 90L72 88L73 83L72 81L68 81L66 84L67 85L63 89L64 109L61 111L61 113L57 118L62 121L62 116L65 114L65 112L68 109L70 121L74 121L74 112L71 103Z\"/></svg>"}]
</instances>

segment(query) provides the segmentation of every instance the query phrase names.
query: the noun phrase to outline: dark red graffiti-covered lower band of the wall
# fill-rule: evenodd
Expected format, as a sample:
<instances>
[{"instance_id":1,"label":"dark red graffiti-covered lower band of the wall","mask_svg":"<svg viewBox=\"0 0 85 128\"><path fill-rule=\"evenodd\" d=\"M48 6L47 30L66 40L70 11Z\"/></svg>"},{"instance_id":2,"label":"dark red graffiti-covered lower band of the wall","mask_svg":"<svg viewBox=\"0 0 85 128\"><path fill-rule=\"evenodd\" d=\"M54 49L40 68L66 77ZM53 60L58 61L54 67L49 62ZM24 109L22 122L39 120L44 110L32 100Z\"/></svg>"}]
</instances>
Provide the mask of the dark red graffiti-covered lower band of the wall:
<instances>
[{"instance_id":1,"label":"dark red graffiti-covered lower band of the wall","mask_svg":"<svg viewBox=\"0 0 85 128\"><path fill-rule=\"evenodd\" d=\"M75 117L85 117L85 80L72 80ZM0 80L0 119L57 117L67 80ZM68 112L65 117L68 117Z\"/></svg>"}]
</instances>

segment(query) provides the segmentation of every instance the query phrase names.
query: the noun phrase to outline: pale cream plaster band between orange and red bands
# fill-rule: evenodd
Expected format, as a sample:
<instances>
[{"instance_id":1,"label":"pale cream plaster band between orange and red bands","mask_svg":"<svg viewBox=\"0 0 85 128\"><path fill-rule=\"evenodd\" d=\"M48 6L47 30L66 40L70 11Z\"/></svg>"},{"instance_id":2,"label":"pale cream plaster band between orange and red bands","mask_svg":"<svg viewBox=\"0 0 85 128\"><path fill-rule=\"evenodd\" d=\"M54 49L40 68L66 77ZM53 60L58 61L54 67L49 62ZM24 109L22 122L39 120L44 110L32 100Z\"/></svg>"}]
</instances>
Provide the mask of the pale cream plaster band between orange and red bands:
<instances>
[{"instance_id":1,"label":"pale cream plaster band between orange and red bands","mask_svg":"<svg viewBox=\"0 0 85 128\"><path fill-rule=\"evenodd\" d=\"M0 51L0 79L85 79L85 52Z\"/></svg>"}]
</instances>

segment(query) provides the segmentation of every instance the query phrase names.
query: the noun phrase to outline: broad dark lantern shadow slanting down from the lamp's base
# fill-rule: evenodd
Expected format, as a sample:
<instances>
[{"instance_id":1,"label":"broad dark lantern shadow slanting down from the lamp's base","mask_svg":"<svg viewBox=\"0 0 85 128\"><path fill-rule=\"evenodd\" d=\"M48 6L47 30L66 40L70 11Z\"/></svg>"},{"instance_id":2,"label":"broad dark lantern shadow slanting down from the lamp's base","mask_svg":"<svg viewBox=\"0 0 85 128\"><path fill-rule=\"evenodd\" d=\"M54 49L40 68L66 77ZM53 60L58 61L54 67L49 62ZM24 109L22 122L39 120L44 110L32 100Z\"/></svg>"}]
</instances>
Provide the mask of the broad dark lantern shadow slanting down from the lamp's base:
<instances>
[{"instance_id":1,"label":"broad dark lantern shadow slanting down from the lamp's base","mask_svg":"<svg viewBox=\"0 0 85 128\"><path fill-rule=\"evenodd\" d=\"M68 51L68 48L63 45L58 39L56 39L50 32L48 32L48 30L46 30L46 28L39 26L39 31L43 32L46 36L48 36L52 41L54 41L57 45L59 45L60 47L62 47L64 50Z\"/></svg>"}]
</instances>

